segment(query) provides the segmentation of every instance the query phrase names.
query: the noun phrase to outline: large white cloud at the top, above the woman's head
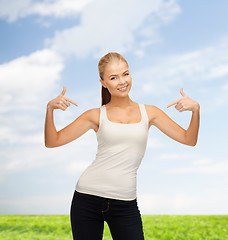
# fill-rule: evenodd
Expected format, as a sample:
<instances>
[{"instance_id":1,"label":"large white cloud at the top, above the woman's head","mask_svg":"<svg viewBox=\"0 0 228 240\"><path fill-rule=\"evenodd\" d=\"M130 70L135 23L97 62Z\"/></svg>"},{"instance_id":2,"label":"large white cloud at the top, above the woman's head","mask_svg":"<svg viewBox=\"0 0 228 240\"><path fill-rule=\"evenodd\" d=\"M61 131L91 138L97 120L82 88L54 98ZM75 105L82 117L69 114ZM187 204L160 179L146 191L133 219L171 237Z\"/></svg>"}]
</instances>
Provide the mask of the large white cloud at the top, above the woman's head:
<instances>
[{"instance_id":1,"label":"large white cloud at the top, above the woman's head","mask_svg":"<svg viewBox=\"0 0 228 240\"><path fill-rule=\"evenodd\" d=\"M107 51L129 51L137 37L142 40L135 46L139 48L136 54L142 55L141 43L148 45L160 40L158 28L179 12L174 0L97 0L84 8L80 25L57 32L47 43L55 51L84 58Z\"/></svg>"}]
</instances>

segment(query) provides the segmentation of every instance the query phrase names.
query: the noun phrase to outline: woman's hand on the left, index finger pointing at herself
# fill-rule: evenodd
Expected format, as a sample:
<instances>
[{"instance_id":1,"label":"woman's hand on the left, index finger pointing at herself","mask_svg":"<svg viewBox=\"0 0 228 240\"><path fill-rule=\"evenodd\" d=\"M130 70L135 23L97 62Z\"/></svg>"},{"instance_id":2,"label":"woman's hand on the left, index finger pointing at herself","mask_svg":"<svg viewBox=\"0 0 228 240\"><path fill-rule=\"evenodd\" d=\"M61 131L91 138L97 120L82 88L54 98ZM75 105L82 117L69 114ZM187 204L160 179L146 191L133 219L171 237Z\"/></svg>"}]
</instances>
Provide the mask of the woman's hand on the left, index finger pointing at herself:
<instances>
[{"instance_id":1,"label":"woman's hand on the left, index finger pointing at herself","mask_svg":"<svg viewBox=\"0 0 228 240\"><path fill-rule=\"evenodd\" d=\"M65 111L70 106L70 103L74 104L75 106L78 106L78 104L76 102L69 99L68 97L65 97L64 96L65 93L66 93L66 87L63 86L63 91L59 94L59 96L54 98L50 102L48 102L48 105L47 105L48 108L51 108L53 110L61 109L61 110Z\"/></svg>"}]
</instances>

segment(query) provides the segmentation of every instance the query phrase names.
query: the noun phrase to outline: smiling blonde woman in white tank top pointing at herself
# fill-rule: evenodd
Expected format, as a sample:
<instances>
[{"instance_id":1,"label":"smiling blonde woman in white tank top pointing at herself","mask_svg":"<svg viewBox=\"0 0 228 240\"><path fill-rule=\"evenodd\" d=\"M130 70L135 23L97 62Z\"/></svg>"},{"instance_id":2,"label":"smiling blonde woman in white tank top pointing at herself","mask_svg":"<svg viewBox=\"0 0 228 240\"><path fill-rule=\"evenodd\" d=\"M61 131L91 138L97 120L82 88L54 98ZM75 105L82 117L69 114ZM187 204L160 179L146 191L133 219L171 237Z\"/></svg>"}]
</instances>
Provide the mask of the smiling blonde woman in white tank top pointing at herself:
<instances>
[{"instance_id":1,"label":"smiling blonde woman in white tank top pointing at herself","mask_svg":"<svg viewBox=\"0 0 228 240\"><path fill-rule=\"evenodd\" d=\"M146 150L149 128L154 125L168 137L195 146L199 129L199 103L181 89L183 98L170 103L179 111L192 111L187 130L154 105L129 97L132 78L127 61L108 53L98 64L102 106L85 111L71 124L56 131L54 109L65 111L77 103L62 93L47 104L45 146L67 144L89 129L97 135L96 159L79 178L71 203L71 227L77 240L101 240L104 221L114 240L144 239L136 197L137 169Z\"/></svg>"}]
</instances>

